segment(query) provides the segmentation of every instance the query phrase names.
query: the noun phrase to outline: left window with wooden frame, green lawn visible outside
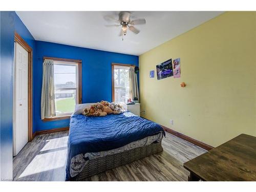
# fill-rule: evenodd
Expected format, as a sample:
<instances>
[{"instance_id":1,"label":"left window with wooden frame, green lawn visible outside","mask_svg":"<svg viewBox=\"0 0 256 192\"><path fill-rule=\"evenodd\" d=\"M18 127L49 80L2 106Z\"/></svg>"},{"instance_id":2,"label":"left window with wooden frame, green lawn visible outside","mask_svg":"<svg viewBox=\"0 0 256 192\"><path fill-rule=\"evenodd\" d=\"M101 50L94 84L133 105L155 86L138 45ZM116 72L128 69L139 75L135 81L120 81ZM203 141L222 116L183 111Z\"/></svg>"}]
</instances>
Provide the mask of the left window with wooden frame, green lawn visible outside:
<instances>
[{"instance_id":1,"label":"left window with wooden frame, green lawn visible outside","mask_svg":"<svg viewBox=\"0 0 256 192\"><path fill-rule=\"evenodd\" d=\"M69 118L81 103L81 60L44 58L53 59L56 112L56 117L46 120Z\"/></svg>"}]
</instances>

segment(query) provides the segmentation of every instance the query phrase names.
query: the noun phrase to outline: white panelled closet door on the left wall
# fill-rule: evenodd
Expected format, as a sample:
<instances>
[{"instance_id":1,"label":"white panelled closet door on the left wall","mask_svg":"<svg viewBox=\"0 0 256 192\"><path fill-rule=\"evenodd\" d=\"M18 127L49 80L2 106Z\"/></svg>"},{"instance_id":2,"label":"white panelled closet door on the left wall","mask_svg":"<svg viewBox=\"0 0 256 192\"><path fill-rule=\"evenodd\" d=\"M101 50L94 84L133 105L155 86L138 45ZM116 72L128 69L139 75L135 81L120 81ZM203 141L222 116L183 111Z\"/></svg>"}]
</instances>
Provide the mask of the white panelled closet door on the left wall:
<instances>
[{"instance_id":1,"label":"white panelled closet door on the left wall","mask_svg":"<svg viewBox=\"0 0 256 192\"><path fill-rule=\"evenodd\" d=\"M13 156L28 142L28 52L15 42Z\"/></svg>"}]
</instances>

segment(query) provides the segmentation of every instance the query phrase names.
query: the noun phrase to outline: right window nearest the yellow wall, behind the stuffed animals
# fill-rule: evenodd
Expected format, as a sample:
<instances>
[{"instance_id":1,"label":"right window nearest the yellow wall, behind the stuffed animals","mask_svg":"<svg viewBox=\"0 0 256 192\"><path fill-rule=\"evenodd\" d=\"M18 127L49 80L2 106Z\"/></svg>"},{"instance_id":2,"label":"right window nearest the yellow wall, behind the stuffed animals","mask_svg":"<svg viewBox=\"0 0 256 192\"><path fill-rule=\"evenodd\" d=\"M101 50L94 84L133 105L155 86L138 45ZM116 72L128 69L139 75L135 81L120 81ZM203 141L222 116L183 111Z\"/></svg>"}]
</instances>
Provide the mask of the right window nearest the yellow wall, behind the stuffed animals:
<instances>
[{"instance_id":1,"label":"right window nearest the yellow wall, behind the stuffed animals","mask_svg":"<svg viewBox=\"0 0 256 192\"><path fill-rule=\"evenodd\" d=\"M126 103L130 98L130 66L112 63L112 101Z\"/></svg>"}]
</instances>

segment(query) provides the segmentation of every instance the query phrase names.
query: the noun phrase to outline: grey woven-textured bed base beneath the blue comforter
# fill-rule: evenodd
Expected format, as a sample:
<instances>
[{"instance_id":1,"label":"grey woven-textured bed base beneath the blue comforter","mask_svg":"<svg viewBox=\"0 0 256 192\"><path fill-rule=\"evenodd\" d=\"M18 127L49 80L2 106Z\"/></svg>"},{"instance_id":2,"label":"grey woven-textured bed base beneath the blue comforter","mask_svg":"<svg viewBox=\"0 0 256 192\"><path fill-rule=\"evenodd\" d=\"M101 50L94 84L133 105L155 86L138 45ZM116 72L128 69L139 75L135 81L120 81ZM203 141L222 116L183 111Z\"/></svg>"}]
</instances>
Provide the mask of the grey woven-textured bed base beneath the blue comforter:
<instances>
[{"instance_id":1,"label":"grey woven-textured bed base beneath the blue comforter","mask_svg":"<svg viewBox=\"0 0 256 192\"><path fill-rule=\"evenodd\" d=\"M84 166L83 170L77 176L71 178L70 181L87 181L89 177L98 175L106 170L137 161L150 155L158 154L163 151L161 141L129 151L92 159Z\"/></svg>"}]
</instances>

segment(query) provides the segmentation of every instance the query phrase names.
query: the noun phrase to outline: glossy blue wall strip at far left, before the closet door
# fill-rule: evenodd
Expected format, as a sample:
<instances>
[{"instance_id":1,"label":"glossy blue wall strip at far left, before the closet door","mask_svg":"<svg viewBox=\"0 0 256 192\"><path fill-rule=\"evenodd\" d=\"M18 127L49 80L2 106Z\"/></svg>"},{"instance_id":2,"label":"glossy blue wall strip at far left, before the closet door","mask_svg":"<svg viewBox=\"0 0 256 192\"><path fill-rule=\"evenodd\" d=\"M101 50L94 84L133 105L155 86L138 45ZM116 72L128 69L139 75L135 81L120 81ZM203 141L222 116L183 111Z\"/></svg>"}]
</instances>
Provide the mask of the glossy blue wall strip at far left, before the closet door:
<instances>
[{"instance_id":1,"label":"glossy blue wall strip at far left, before the closet door","mask_svg":"<svg viewBox=\"0 0 256 192\"><path fill-rule=\"evenodd\" d=\"M15 12L0 12L0 179L12 179L12 109Z\"/></svg>"}]
</instances>

